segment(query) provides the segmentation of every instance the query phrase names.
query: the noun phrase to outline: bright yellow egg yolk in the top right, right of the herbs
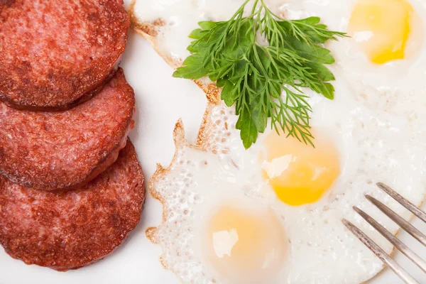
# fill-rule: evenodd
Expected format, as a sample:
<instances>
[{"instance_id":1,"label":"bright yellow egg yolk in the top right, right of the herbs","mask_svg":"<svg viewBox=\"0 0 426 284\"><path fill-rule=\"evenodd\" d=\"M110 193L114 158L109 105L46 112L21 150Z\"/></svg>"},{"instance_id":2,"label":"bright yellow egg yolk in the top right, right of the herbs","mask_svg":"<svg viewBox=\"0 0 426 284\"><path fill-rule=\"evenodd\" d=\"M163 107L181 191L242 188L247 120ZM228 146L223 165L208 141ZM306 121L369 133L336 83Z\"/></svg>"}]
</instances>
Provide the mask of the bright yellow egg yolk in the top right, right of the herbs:
<instances>
[{"instance_id":1,"label":"bright yellow egg yolk in the top right, right of the herbs","mask_svg":"<svg viewBox=\"0 0 426 284\"><path fill-rule=\"evenodd\" d=\"M349 35L361 43L373 63L403 59L413 12L406 0L359 0L349 21Z\"/></svg>"}]
</instances>

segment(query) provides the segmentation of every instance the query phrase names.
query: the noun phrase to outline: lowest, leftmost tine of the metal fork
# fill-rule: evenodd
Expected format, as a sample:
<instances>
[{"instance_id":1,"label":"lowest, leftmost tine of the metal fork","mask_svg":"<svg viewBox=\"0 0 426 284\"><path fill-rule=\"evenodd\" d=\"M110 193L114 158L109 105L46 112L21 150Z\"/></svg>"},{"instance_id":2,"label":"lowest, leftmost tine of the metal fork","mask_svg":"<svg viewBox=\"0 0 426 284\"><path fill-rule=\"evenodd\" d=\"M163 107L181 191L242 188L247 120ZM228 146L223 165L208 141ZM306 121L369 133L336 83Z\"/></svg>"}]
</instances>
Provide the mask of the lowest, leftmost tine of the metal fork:
<instances>
[{"instance_id":1,"label":"lowest, leftmost tine of the metal fork","mask_svg":"<svg viewBox=\"0 0 426 284\"><path fill-rule=\"evenodd\" d=\"M342 219L343 224L346 226L346 228L349 229L349 231L352 232L360 241L363 242L364 245L368 247L371 251L373 251L374 254L378 258L383 261L383 263L386 263L389 268L392 269L392 271L399 276L405 283L407 284L420 284L411 276L408 274L407 271L404 270L398 263L396 263L391 256L388 255L383 249L381 249L374 241L372 241L366 234L364 234L360 229L358 229L354 224L349 222L346 219Z\"/></svg>"}]
</instances>

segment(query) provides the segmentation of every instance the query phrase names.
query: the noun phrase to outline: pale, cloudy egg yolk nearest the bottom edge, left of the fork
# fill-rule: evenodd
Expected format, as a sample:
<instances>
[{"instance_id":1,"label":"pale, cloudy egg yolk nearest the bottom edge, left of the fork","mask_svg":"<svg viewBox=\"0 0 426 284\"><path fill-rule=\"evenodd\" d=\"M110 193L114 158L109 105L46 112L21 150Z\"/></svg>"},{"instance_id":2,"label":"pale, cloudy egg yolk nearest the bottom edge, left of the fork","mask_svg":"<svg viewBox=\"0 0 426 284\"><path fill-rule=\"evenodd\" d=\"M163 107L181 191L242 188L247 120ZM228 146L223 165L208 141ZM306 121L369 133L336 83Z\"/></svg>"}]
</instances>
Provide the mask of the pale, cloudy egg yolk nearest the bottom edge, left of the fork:
<instances>
[{"instance_id":1,"label":"pale, cloudy egg yolk nearest the bottom edge, left of the fork","mask_svg":"<svg viewBox=\"0 0 426 284\"><path fill-rule=\"evenodd\" d=\"M207 262L224 282L268 283L283 265L285 234L270 208L220 207L206 231Z\"/></svg>"}]
</instances>

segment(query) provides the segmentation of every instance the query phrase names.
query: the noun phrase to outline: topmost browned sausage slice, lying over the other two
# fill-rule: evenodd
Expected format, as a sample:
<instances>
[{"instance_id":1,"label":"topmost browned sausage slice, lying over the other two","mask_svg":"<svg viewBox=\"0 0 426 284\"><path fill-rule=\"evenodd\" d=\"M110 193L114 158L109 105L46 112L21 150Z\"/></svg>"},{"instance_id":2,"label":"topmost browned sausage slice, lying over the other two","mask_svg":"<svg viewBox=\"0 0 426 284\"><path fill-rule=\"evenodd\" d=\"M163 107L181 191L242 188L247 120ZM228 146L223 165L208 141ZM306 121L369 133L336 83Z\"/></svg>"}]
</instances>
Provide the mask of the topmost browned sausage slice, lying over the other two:
<instances>
[{"instance_id":1,"label":"topmost browned sausage slice, lying over the other two","mask_svg":"<svg viewBox=\"0 0 426 284\"><path fill-rule=\"evenodd\" d=\"M0 99L31 110L89 99L118 67L129 25L123 0L0 1Z\"/></svg>"}]
</instances>

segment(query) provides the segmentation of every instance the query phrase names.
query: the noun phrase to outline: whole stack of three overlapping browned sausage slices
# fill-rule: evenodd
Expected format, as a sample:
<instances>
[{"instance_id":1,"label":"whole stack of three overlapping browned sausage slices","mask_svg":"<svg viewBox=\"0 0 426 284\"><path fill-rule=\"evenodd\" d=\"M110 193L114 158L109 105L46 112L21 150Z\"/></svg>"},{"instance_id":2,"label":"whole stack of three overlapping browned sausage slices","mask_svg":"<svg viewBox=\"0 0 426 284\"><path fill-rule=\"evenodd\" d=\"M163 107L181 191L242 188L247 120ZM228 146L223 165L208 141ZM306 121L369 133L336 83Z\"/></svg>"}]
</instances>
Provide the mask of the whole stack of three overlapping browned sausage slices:
<instances>
[{"instance_id":1,"label":"whole stack of three overlapping browned sausage slices","mask_svg":"<svg viewBox=\"0 0 426 284\"><path fill-rule=\"evenodd\" d=\"M0 1L0 244L58 271L107 256L145 187L122 0Z\"/></svg>"}]
</instances>

